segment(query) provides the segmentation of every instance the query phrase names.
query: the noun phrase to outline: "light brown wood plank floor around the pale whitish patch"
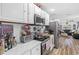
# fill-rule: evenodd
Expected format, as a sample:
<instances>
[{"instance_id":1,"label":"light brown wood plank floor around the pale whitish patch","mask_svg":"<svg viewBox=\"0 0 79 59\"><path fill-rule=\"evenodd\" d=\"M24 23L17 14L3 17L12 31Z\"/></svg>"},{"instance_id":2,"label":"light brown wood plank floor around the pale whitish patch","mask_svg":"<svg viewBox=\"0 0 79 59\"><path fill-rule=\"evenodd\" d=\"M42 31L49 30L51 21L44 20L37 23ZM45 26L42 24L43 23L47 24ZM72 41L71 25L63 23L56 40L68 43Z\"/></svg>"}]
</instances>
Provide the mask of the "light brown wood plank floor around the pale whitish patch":
<instances>
[{"instance_id":1,"label":"light brown wood plank floor around the pale whitish patch","mask_svg":"<svg viewBox=\"0 0 79 59\"><path fill-rule=\"evenodd\" d=\"M64 40L65 37L60 37L59 48L58 49L54 48L53 51L49 53L49 55L79 55L79 40L74 39L74 46L71 50L68 48L67 49L63 48Z\"/></svg>"}]
</instances>

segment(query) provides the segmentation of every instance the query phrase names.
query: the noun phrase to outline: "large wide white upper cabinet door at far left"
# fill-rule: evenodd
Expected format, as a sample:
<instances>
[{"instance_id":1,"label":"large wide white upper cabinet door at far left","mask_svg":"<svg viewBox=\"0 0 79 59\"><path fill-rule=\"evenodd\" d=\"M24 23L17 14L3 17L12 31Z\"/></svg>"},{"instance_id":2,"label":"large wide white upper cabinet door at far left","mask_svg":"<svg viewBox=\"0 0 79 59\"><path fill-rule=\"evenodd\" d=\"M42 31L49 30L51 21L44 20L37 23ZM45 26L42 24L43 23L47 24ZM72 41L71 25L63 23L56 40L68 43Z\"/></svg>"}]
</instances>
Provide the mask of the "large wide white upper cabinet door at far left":
<instances>
[{"instance_id":1,"label":"large wide white upper cabinet door at far left","mask_svg":"<svg viewBox=\"0 0 79 59\"><path fill-rule=\"evenodd\" d=\"M22 22L24 21L24 4L23 3L3 3L2 17L9 21Z\"/></svg>"}]
</instances>

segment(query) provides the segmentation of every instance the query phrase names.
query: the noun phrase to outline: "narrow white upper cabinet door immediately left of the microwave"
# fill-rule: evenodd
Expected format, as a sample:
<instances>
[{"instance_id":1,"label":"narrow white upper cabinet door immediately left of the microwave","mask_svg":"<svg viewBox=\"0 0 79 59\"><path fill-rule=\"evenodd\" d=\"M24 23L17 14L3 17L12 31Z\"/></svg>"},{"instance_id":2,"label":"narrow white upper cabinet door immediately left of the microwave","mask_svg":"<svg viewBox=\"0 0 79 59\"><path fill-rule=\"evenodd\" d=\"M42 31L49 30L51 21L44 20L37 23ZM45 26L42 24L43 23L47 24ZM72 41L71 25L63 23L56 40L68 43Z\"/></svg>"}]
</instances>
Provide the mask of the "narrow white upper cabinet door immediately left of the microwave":
<instances>
[{"instance_id":1,"label":"narrow white upper cabinet door immediately left of the microwave","mask_svg":"<svg viewBox=\"0 0 79 59\"><path fill-rule=\"evenodd\" d=\"M34 24L34 4L32 4L32 3L29 3L29 10L28 10L28 12L29 12L29 18L28 18L28 23L29 24Z\"/></svg>"}]
</instances>

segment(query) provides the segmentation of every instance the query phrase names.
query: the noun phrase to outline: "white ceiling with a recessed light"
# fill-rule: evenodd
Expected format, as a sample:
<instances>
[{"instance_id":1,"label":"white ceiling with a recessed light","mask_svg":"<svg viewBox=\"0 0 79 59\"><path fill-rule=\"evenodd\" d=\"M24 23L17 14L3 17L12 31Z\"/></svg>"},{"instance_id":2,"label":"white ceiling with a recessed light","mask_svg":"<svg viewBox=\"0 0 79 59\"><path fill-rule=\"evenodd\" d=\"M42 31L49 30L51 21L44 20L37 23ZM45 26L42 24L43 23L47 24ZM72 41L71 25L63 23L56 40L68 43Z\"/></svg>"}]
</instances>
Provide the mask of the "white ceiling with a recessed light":
<instances>
[{"instance_id":1,"label":"white ceiling with a recessed light","mask_svg":"<svg viewBox=\"0 0 79 59\"><path fill-rule=\"evenodd\" d=\"M41 3L51 19L75 17L79 15L79 3ZM53 11L51 11L53 9Z\"/></svg>"}]
</instances>

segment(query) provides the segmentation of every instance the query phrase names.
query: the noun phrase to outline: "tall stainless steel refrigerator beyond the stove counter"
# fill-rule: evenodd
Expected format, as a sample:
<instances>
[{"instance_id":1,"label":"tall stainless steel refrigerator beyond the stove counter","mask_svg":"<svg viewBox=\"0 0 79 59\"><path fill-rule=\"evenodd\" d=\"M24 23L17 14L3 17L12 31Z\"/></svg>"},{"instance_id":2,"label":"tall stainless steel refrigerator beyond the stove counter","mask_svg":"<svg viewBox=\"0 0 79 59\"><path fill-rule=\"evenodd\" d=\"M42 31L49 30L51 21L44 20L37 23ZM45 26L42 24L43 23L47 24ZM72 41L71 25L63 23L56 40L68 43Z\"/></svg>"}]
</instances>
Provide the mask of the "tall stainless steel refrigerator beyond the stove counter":
<instances>
[{"instance_id":1,"label":"tall stainless steel refrigerator beyond the stove counter","mask_svg":"<svg viewBox=\"0 0 79 59\"><path fill-rule=\"evenodd\" d=\"M54 44L55 48L59 47L59 23L58 22L50 22L49 29L54 32Z\"/></svg>"}]
</instances>

